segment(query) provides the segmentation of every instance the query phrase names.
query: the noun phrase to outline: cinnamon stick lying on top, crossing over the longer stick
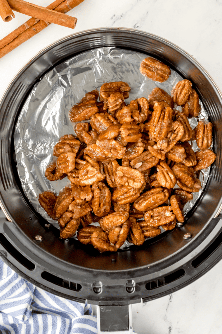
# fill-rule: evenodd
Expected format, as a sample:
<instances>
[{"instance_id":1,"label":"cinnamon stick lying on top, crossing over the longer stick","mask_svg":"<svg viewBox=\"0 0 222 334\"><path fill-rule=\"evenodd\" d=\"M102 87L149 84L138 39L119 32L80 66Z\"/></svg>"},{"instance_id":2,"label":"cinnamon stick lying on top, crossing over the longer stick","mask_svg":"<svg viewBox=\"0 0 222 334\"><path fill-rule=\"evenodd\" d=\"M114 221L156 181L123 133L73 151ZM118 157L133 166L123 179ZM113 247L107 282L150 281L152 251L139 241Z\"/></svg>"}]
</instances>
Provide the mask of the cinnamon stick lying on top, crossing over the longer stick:
<instances>
[{"instance_id":1,"label":"cinnamon stick lying on top, crossing over the longer stick","mask_svg":"<svg viewBox=\"0 0 222 334\"><path fill-rule=\"evenodd\" d=\"M7 0L12 10L35 17L40 20L44 20L50 23L62 25L64 27L74 29L76 26L77 18L63 13L59 13L55 10L37 6L30 2L23 0Z\"/></svg>"}]
</instances>

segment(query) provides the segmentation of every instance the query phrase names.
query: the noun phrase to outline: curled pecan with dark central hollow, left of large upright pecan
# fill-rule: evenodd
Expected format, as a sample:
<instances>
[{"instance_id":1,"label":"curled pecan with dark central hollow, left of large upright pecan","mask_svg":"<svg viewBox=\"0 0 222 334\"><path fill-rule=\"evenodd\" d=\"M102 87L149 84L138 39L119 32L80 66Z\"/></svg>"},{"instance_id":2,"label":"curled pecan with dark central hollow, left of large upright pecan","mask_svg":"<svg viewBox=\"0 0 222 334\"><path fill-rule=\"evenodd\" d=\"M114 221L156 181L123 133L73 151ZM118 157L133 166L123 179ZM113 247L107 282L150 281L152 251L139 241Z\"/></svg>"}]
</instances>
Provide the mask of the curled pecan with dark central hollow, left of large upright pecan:
<instances>
[{"instance_id":1,"label":"curled pecan with dark central hollow, left of large upright pecan","mask_svg":"<svg viewBox=\"0 0 222 334\"><path fill-rule=\"evenodd\" d=\"M146 98L132 100L128 107L136 123L144 123L148 119L148 115L150 115L149 104Z\"/></svg>"}]
</instances>

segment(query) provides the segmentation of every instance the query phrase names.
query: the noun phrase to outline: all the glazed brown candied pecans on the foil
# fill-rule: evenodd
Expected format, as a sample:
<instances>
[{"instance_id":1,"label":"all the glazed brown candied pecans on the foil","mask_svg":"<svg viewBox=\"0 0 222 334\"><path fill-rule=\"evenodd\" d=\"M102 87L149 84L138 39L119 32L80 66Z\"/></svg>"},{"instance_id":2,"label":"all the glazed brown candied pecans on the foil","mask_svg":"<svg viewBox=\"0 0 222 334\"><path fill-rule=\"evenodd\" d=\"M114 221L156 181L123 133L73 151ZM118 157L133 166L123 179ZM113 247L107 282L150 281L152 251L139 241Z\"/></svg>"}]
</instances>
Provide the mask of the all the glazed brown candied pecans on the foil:
<instances>
[{"instance_id":1,"label":"all the glazed brown candied pecans on the foil","mask_svg":"<svg viewBox=\"0 0 222 334\"><path fill-rule=\"evenodd\" d=\"M149 57L140 72L163 82L170 68ZM71 186L58 195L39 195L41 206L58 220L61 238L77 231L80 242L99 252L115 252L125 240L142 245L160 234L160 227L172 230L184 222L184 204L201 189L198 172L216 157L210 149L212 124L199 121L192 130L188 121L200 110L189 80L179 81L172 97L155 88L126 105L129 91L123 81L104 83L100 93L87 93L71 108L77 137L59 139L53 151L57 161L45 172L50 181L67 176ZM193 151L191 140L199 151ZM92 225L96 222L100 226Z\"/></svg>"}]
</instances>

